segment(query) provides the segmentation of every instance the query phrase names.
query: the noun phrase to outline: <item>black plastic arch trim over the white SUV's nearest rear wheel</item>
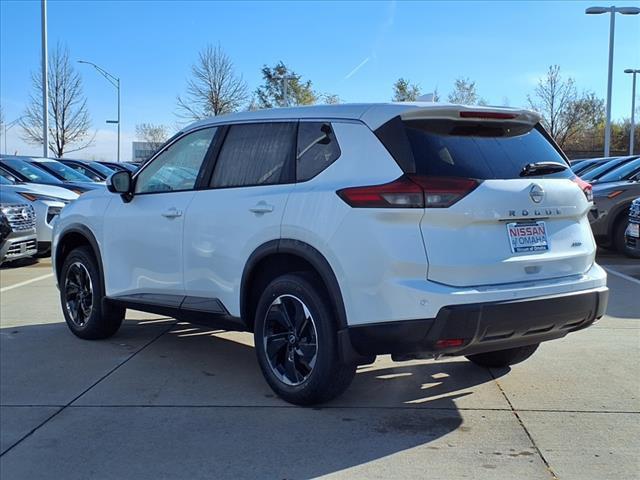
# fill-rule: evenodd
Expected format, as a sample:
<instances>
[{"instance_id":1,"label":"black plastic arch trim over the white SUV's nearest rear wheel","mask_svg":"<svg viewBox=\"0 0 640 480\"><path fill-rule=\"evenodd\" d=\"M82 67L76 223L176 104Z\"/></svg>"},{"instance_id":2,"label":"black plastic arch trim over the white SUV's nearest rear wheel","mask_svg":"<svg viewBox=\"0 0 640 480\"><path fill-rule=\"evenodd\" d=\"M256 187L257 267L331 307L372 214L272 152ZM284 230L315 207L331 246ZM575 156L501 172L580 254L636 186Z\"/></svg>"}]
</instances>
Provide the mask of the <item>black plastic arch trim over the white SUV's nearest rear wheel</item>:
<instances>
[{"instance_id":1,"label":"black plastic arch trim over the white SUV's nearest rear wheel","mask_svg":"<svg viewBox=\"0 0 640 480\"><path fill-rule=\"evenodd\" d=\"M240 283L240 316L253 330L255 304L259 292L255 287L288 272L311 270L322 282L332 303L338 330L347 327L347 315L338 280L327 259L308 243L294 239L264 243L249 256Z\"/></svg>"}]
</instances>

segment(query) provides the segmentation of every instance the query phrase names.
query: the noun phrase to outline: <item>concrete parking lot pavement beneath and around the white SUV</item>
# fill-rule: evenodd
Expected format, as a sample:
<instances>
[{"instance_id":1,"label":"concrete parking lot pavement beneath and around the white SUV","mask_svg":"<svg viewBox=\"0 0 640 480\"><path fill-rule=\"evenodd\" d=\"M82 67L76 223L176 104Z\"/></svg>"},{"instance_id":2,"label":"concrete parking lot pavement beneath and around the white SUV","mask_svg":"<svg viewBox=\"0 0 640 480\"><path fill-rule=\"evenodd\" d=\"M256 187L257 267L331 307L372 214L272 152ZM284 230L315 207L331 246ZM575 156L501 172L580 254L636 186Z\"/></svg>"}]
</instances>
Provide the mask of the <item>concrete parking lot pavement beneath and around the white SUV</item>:
<instances>
[{"instance_id":1,"label":"concrete parking lot pavement beneath and around the white SUV","mask_svg":"<svg viewBox=\"0 0 640 480\"><path fill-rule=\"evenodd\" d=\"M246 333L129 311L71 335L50 262L0 270L3 479L634 479L640 262L613 254L609 309L511 370L464 359L359 369L345 395L276 398Z\"/></svg>"}]
</instances>

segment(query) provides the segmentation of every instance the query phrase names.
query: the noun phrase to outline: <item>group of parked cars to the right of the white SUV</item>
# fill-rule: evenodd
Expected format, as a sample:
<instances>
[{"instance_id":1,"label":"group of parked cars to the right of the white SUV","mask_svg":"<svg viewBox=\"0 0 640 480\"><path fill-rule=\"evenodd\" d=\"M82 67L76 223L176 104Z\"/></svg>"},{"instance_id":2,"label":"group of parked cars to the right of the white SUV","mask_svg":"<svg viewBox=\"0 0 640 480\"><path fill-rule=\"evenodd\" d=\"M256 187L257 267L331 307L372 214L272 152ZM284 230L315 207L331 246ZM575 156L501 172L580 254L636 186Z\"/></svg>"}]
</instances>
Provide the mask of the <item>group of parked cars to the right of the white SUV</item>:
<instances>
[{"instance_id":1,"label":"group of parked cars to the right of the white SUV","mask_svg":"<svg viewBox=\"0 0 640 480\"><path fill-rule=\"evenodd\" d=\"M589 221L599 245L629 256L638 256L628 229L631 203L640 196L640 156L593 158L575 161L574 173L593 185L593 208ZM631 240L628 240L628 238ZM634 251L635 250L635 251Z\"/></svg>"}]
</instances>

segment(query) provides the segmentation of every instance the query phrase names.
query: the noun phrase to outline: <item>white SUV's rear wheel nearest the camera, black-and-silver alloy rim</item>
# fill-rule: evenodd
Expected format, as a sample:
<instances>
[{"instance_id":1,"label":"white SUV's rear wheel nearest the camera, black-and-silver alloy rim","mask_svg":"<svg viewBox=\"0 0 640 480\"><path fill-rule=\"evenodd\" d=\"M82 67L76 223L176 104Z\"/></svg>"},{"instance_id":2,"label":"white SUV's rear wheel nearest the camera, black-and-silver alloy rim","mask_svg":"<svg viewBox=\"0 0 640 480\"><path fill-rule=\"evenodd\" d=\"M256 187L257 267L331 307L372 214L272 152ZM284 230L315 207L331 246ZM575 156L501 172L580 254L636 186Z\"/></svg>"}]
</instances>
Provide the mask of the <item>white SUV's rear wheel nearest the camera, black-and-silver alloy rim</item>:
<instances>
[{"instance_id":1,"label":"white SUV's rear wheel nearest the camera, black-and-silver alloy rim","mask_svg":"<svg viewBox=\"0 0 640 480\"><path fill-rule=\"evenodd\" d=\"M324 289L305 273L278 277L262 292L254 323L256 355L267 383L283 400L323 403L351 384L356 365L340 361L331 312Z\"/></svg>"}]
</instances>

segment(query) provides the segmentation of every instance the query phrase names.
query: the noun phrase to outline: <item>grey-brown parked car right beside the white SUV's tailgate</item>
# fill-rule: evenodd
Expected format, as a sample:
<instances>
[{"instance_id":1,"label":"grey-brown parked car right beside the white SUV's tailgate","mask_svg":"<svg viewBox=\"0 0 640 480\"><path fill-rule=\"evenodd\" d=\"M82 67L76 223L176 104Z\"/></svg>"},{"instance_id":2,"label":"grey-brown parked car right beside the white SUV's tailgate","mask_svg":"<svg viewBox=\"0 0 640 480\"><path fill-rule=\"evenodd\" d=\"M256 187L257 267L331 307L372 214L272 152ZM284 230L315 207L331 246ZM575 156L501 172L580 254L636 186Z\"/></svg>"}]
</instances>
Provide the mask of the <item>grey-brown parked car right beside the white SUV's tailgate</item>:
<instances>
[{"instance_id":1,"label":"grey-brown parked car right beside the white SUV's tailgate","mask_svg":"<svg viewBox=\"0 0 640 480\"><path fill-rule=\"evenodd\" d=\"M593 186L594 207L589 213L599 245L628 253L624 232L631 201L640 196L640 158L619 166Z\"/></svg>"}]
</instances>

